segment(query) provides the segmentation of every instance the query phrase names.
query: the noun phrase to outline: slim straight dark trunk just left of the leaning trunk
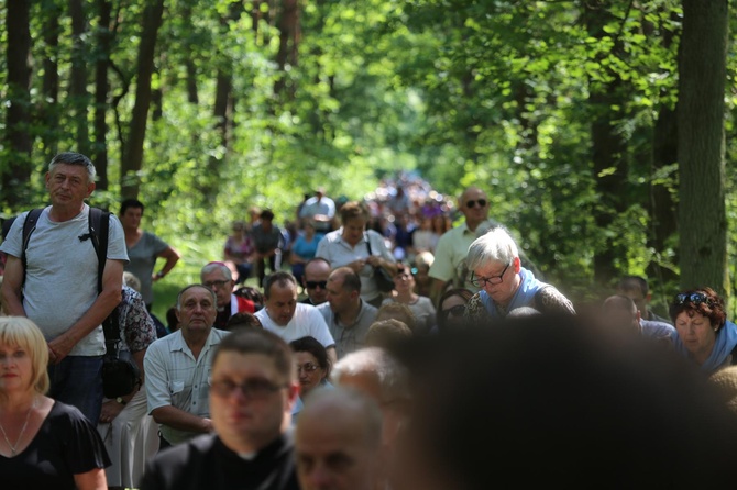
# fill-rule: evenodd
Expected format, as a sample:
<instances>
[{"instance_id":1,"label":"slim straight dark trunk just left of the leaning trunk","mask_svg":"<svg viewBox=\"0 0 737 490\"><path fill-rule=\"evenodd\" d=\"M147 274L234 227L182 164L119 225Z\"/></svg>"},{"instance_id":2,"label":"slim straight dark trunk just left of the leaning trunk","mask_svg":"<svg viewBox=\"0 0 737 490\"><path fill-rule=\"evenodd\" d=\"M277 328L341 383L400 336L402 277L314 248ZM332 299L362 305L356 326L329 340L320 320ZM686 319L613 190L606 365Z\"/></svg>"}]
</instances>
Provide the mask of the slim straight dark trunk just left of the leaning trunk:
<instances>
[{"instance_id":1,"label":"slim straight dark trunk just left of the leaning trunk","mask_svg":"<svg viewBox=\"0 0 737 490\"><path fill-rule=\"evenodd\" d=\"M97 27L97 64L95 67L95 151L92 162L97 168L97 187L107 190L108 177L108 70L110 67L110 44L112 32L110 20L112 4L108 0L98 0L99 25Z\"/></svg>"}]
</instances>

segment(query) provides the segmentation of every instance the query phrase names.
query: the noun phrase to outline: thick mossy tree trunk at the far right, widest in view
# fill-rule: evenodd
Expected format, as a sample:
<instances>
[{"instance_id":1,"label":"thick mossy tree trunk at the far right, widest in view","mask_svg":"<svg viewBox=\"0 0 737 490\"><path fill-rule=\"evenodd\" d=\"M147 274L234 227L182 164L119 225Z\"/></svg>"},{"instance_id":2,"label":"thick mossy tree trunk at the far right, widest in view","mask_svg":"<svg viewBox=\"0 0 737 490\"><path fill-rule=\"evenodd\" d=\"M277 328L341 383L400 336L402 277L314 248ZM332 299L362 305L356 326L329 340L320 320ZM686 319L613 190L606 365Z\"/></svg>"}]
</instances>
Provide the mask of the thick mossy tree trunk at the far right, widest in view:
<instances>
[{"instance_id":1,"label":"thick mossy tree trunk at the far right, widest in view","mask_svg":"<svg viewBox=\"0 0 737 490\"><path fill-rule=\"evenodd\" d=\"M679 171L681 287L727 282L724 168L724 90L727 0L683 0L679 59Z\"/></svg>"}]
</instances>

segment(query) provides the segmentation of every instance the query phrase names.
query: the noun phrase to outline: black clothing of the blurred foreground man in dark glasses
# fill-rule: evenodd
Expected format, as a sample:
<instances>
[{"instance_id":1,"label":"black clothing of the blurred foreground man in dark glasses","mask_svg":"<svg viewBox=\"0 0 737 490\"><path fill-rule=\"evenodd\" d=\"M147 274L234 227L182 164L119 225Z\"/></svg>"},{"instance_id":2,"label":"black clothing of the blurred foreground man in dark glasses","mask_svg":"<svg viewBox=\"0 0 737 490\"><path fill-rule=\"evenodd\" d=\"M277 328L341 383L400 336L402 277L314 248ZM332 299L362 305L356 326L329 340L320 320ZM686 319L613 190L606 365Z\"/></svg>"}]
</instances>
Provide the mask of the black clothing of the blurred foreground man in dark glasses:
<instances>
[{"instance_id":1,"label":"black clothing of the blurred foreground man in dark glasses","mask_svg":"<svg viewBox=\"0 0 737 490\"><path fill-rule=\"evenodd\" d=\"M208 434L177 444L146 465L141 490L299 490L292 437L244 459Z\"/></svg>"}]
</instances>

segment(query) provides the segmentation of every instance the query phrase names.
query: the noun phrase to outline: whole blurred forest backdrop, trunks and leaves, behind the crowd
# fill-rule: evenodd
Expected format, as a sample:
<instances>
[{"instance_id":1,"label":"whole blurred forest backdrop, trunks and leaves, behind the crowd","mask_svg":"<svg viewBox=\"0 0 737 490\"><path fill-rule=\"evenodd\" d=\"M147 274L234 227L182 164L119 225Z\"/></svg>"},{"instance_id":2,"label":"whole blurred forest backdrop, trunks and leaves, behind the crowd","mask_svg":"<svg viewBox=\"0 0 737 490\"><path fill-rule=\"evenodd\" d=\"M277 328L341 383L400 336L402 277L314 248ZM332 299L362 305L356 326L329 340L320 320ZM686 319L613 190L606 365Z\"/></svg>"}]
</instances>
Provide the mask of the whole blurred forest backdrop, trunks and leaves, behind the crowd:
<instances>
[{"instance_id":1,"label":"whole blurred forest backdrop, trunks and leaves, behind the crowd","mask_svg":"<svg viewBox=\"0 0 737 490\"><path fill-rule=\"evenodd\" d=\"M45 202L64 149L98 166L94 203L140 198L185 252L249 205L283 221L317 186L361 199L416 170L439 192L484 188L573 297L624 274L661 302L730 293L726 0L0 5L4 215Z\"/></svg>"}]
</instances>

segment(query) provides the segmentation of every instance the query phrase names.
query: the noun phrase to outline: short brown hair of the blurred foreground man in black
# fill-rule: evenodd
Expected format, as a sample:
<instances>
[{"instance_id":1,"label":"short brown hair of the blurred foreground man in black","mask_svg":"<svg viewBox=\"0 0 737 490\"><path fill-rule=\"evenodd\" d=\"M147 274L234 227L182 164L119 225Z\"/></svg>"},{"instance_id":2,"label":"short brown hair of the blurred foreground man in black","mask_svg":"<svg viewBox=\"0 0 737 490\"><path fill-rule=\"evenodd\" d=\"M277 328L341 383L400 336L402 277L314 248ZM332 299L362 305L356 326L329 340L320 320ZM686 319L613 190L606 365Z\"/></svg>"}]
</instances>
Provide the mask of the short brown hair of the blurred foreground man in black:
<instances>
[{"instance_id":1,"label":"short brown hair of the blurred foreground man in black","mask_svg":"<svg viewBox=\"0 0 737 490\"><path fill-rule=\"evenodd\" d=\"M274 365L279 375L289 380L294 379L292 350L286 342L275 333L263 328L238 328L222 337L218 345L212 366L221 353L233 352L238 354L262 354L274 359Z\"/></svg>"}]
</instances>

